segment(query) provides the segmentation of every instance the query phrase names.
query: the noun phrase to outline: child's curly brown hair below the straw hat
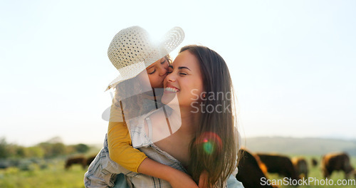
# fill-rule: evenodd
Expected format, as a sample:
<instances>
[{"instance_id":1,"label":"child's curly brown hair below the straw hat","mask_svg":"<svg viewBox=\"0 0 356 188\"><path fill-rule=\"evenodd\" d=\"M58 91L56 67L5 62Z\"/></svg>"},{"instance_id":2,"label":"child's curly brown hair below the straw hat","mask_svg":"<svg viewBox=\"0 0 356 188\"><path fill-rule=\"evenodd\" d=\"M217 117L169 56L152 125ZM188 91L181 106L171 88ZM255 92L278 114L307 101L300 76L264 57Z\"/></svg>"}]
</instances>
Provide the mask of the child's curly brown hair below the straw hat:
<instances>
[{"instance_id":1,"label":"child's curly brown hair below the straw hat","mask_svg":"<svg viewBox=\"0 0 356 188\"><path fill-rule=\"evenodd\" d=\"M164 56L164 58L166 58L169 64L172 63L172 59L169 55ZM153 89L148 92L140 92L141 90L142 82L139 76L135 76L134 78L122 81L122 83L119 83L115 86L115 96L113 103L115 104L116 110L125 109L124 115L126 119L130 119L131 117L137 117L137 115L149 113L149 111L152 110L143 109L142 104L144 103L142 102L143 100L147 99L147 96L151 96L152 100L155 100L157 97L157 93L155 93ZM132 93L140 94L132 96ZM120 104L122 104L122 106Z\"/></svg>"}]
</instances>

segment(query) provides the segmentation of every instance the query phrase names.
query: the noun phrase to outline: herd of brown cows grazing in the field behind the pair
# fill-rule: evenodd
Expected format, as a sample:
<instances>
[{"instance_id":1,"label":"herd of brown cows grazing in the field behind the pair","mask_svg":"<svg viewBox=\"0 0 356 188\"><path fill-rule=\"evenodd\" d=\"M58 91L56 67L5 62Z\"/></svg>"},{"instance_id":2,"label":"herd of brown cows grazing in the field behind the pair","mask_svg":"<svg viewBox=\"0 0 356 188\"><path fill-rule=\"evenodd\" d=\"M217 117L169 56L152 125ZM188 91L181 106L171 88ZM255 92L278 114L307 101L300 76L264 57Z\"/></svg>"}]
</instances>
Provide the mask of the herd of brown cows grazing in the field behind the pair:
<instances>
[{"instance_id":1,"label":"herd of brown cows grazing in the field behind the pair","mask_svg":"<svg viewBox=\"0 0 356 188\"><path fill-rule=\"evenodd\" d=\"M278 187L276 185L261 184L261 179L268 179L268 173L277 173L281 177L290 179L307 179L308 162L303 157L289 158L283 155L253 154L246 149L241 151L239 161L239 173L236 179L244 184L245 188ZM69 169L73 164L82 165L83 169L94 160L92 157L70 157L66 161L65 168ZM312 166L316 167L318 161L311 160ZM323 156L321 160L323 176L329 178L334 171L345 172L345 178L351 175L356 179L356 170L350 163L350 157L346 153L330 153Z\"/></svg>"}]
</instances>

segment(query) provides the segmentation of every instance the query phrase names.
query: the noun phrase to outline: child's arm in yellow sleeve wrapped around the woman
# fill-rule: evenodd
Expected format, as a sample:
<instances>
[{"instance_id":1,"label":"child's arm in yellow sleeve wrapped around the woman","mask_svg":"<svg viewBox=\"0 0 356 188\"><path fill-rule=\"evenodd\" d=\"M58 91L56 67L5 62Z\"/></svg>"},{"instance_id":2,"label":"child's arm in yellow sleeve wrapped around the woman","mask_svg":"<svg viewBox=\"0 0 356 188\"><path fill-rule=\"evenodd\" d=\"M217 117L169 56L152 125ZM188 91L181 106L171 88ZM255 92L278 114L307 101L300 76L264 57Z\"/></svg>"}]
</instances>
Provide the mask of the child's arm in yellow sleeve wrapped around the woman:
<instances>
[{"instance_id":1,"label":"child's arm in yellow sleeve wrapped around the woman","mask_svg":"<svg viewBox=\"0 0 356 188\"><path fill-rule=\"evenodd\" d=\"M172 187L196 187L197 184L192 177L184 172L155 162L148 158L144 152L132 147L130 133L127 130L120 110L115 110L112 105L110 111L110 122L108 127L108 147L111 160L132 172L140 172L152 177L164 179Z\"/></svg>"}]
</instances>

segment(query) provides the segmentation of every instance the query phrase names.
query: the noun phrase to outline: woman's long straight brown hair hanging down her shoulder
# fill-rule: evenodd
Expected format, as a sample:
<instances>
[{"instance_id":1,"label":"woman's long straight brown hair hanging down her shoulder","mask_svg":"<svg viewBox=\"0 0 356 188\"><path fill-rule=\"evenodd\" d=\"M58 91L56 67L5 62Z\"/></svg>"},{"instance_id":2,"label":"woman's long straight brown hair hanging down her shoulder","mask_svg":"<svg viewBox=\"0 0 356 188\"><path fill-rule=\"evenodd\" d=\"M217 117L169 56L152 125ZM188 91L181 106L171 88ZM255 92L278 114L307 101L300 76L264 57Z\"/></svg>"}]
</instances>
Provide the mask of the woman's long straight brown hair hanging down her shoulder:
<instances>
[{"instance_id":1,"label":"woman's long straight brown hair hanging down her shoulder","mask_svg":"<svg viewBox=\"0 0 356 188\"><path fill-rule=\"evenodd\" d=\"M229 68L221 56L204 46L184 46L198 59L203 77L205 100L197 133L190 145L189 172L199 182L201 172L208 172L209 187L222 187L234 172L238 159L238 133L234 108L234 89Z\"/></svg>"}]
</instances>

